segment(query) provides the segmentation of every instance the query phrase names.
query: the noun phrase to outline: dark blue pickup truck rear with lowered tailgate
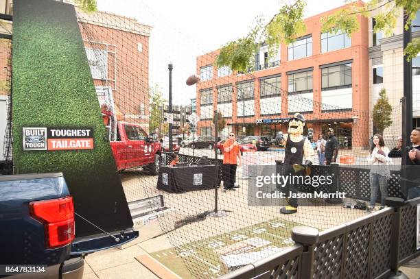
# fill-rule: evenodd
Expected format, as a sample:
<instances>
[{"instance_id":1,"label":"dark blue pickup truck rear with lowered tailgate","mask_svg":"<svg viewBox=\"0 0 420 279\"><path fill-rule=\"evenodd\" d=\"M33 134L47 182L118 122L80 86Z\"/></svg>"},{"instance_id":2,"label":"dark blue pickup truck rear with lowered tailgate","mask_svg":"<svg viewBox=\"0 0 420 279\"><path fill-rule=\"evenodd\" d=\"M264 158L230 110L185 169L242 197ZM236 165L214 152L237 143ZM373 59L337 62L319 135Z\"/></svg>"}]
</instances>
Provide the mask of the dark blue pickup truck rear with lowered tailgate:
<instances>
[{"instance_id":1,"label":"dark blue pickup truck rear with lowered tailgate","mask_svg":"<svg viewBox=\"0 0 420 279\"><path fill-rule=\"evenodd\" d=\"M138 236L129 229L75 238L75 214L62 173L0 175L0 263L8 271L36 266L3 266L0 278L82 278L84 256Z\"/></svg>"}]
</instances>

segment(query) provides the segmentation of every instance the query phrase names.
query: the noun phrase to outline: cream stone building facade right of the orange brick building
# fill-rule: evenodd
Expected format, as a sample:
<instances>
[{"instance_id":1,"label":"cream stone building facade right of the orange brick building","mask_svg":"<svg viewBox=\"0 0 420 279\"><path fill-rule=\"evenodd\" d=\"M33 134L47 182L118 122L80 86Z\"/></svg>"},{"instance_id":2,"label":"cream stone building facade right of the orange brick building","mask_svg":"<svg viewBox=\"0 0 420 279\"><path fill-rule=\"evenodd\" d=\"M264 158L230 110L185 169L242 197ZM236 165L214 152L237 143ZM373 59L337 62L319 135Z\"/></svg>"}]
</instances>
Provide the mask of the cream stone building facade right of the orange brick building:
<instances>
[{"instance_id":1,"label":"cream stone building facade right of the orange brick building","mask_svg":"<svg viewBox=\"0 0 420 279\"><path fill-rule=\"evenodd\" d=\"M385 138L396 140L401 132L401 104L404 96L404 49L403 10L399 11L397 24L392 36L385 36L384 32L373 32L375 16L378 12L386 12L384 8L375 10L369 17L369 109L373 110L380 90L386 90L390 105L395 108L393 123L384 130ZM420 25L420 11L412 25ZM420 27L412 27L412 38L420 38ZM420 127L420 56L412 59L412 117L414 127ZM371 119L371 134L376 131L375 123Z\"/></svg>"}]
</instances>

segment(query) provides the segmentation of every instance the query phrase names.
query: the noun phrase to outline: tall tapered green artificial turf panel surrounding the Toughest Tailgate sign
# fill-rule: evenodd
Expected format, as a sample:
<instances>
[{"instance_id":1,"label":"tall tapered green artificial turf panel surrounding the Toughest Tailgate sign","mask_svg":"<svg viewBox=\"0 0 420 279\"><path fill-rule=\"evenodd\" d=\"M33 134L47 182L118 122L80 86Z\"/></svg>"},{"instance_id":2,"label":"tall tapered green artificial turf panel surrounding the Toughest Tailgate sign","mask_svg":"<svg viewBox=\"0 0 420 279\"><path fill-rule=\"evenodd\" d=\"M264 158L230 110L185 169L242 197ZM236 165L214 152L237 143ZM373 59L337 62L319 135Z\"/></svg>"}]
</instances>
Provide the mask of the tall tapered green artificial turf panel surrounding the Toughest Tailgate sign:
<instances>
[{"instance_id":1,"label":"tall tapered green artificial turf panel surrounding the Toughest Tailgate sign","mask_svg":"<svg viewBox=\"0 0 420 279\"><path fill-rule=\"evenodd\" d=\"M132 226L72 5L14 6L12 117L15 173L62 171L76 212L108 230ZM24 127L92 128L95 148L23 151ZM97 232L76 219L76 236Z\"/></svg>"}]
</instances>

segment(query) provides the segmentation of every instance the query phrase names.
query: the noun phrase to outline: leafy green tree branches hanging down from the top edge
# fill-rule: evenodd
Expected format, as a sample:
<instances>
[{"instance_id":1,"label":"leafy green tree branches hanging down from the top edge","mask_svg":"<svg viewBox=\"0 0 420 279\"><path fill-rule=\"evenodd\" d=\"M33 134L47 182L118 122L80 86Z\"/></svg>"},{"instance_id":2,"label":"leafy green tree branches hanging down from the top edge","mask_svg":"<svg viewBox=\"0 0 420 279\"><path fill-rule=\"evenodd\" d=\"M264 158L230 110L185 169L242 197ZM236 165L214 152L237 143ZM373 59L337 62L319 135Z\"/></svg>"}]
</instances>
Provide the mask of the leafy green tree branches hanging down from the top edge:
<instances>
[{"instance_id":1,"label":"leafy green tree branches hanging down from the top edge","mask_svg":"<svg viewBox=\"0 0 420 279\"><path fill-rule=\"evenodd\" d=\"M253 56L262 42L268 45L270 56L279 44L293 43L296 38L303 36L306 32L303 21L306 1L295 0L294 3L283 5L279 9L279 13L268 24L265 24L261 17L257 17L255 27L251 28L246 36L222 46L215 64L218 67L230 66L233 71L244 72L253 69ZM321 19L322 32L336 34L338 31L342 31L351 35L359 29L359 15L367 17L370 12L380 8L383 8L384 12L374 16L376 22L374 31L383 30L386 35L391 35L401 9L406 8L408 21L404 27L408 29L420 8L420 1L371 0L364 5L361 1L352 1L345 8ZM408 60L415 58L419 52L420 38L413 39L404 49L404 54L408 55Z\"/></svg>"}]
</instances>

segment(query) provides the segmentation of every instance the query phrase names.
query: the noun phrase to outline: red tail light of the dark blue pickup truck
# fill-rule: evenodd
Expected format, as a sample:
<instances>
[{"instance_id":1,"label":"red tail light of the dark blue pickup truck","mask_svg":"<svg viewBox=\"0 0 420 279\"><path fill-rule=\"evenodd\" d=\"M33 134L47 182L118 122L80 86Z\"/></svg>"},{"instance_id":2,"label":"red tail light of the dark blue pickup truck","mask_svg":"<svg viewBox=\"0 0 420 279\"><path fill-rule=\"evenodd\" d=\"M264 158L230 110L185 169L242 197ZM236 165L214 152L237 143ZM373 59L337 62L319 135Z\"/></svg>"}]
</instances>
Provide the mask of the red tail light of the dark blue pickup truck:
<instances>
[{"instance_id":1,"label":"red tail light of the dark blue pickup truck","mask_svg":"<svg viewBox=\"0 0 420 279\"><path fill-rule=\"evenodd\" d=\"M60 247L73 241L73 197L31 202L30 213L34 219L44 224L47 247Z\"/></svg>"}]
</instances>

